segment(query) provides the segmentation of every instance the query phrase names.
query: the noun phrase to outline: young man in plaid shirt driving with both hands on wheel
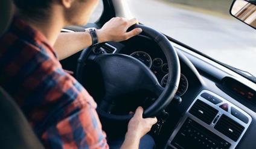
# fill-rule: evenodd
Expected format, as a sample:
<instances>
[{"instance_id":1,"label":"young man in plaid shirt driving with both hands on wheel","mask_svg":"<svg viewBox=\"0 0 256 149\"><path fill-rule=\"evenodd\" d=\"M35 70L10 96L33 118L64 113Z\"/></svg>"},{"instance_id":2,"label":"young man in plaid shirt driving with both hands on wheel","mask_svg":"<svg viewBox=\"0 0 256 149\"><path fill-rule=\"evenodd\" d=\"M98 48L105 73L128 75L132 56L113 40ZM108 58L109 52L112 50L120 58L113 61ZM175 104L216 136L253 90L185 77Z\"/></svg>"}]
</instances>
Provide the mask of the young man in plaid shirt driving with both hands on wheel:
<instances>
[{"instance_id":1,"label":"young man in plaid shirt driving with both hands on wheel","mask_svg":"<svg viewBox=\"0 0 256 149\"><path fill-rule=\"evenodd\" d=\"M19 104L46 148L109 148L92 97L58 59L95 43L91 33L65 33L83 25L98 0L14 0L17 12L0 39L0 86ZM141 33L136 19L116 17L96 31L98 43L129 39ZM142 118L138 107L121 148L138 148L156 118Z\"/></svg>"}]
</instances>

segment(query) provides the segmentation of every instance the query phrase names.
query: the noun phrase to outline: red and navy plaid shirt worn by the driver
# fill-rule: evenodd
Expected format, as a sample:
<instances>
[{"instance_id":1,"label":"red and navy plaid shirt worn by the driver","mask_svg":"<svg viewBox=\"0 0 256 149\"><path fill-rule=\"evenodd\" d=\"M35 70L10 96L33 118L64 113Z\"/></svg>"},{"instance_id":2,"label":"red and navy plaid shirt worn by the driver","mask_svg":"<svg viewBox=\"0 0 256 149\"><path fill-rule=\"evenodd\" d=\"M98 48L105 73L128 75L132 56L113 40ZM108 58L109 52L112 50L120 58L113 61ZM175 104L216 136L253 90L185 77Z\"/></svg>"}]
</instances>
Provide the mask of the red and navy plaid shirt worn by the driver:
<instances>
[{"instance_id":1,"label":"red and navy plaid shirt worn by the driver","mask_svg":"<svg viewBox=\"0 0 256 149\"><path fill-rule=\"evenodd\" d=\"M0 39L0 86L46 148L109 148L92 97L63 71L46 38L17 18Z\"/></svg>"}]
</instances>

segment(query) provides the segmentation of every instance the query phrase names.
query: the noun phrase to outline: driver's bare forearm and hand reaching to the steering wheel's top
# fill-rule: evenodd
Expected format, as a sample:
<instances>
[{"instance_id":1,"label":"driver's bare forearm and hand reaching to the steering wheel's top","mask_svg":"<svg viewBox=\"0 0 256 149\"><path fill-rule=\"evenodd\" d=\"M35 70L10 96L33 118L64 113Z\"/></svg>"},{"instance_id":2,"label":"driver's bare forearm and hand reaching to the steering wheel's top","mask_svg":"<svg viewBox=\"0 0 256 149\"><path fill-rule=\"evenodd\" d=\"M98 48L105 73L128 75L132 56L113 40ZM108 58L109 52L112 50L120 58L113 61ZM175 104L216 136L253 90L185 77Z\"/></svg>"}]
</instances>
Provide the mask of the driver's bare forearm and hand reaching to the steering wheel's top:
<instances>
[{"instance_id":1,"label":"driver's bare forearm and hand reaching to the steering wheel's top","mask_svg":"<svg viewBox=\"0 0 256 149\"><path fill-rule=\"evenodd\" d=\"M120 42L141 33L141 28L135 28L130 32L127 29L136 24L136 19L114 17L110 19L100 30L97 30L98 42ZM92 45L92 37L89 33L60 33L54 48L59 60L65 59L76 52Z\"/></svg>"}]
</instances>

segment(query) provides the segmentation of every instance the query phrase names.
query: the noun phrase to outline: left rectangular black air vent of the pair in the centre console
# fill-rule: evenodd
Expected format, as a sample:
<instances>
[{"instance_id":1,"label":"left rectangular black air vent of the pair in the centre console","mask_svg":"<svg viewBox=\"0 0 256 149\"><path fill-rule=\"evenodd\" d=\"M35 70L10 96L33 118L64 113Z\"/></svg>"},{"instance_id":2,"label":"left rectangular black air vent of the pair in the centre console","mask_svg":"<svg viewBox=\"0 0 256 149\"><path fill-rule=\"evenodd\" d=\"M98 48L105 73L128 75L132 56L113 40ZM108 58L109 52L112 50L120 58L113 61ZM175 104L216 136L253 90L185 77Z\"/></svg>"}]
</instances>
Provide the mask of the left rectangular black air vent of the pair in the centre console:
<instances>
[{"instance_id":1,"label":"left rectangular black air vent of the pair in the centre console","mask_svg":"<svg viewBox=\"0 0 256 149\"><path fill-rule=\"evenodd\" d=\"M210 125L213 119L216 117L219 111L203 103L201 100L197 100L196 103L191 107L190 113L197 118L201 119L206 124Z\"/></svg>"}]
</instances>

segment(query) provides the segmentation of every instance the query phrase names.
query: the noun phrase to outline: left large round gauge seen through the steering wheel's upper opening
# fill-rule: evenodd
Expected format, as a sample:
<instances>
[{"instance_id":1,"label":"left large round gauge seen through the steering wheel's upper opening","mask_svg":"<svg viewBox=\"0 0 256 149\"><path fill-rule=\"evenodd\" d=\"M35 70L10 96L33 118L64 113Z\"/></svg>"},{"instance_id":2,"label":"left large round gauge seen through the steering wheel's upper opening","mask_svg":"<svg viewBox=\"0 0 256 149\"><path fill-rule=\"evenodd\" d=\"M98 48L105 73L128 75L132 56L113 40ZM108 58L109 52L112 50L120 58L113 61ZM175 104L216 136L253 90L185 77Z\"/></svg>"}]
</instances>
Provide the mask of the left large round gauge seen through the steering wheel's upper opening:
<instances>
[{"instance_id":1,"label":"left large round gauge seen through the steering wheel's upper opening","mask_svg":"<svg viewBox=\"0 0 256 149\"><path fill-rule=\"evenodd\" d=\"M151 68L152 66L152 59L149 54L147 54L144 51L136 51L130 54L130 56L134 57L135 59L138 59L142 63L144 63L146 66Z\"/></svg>"}]
</instances>

